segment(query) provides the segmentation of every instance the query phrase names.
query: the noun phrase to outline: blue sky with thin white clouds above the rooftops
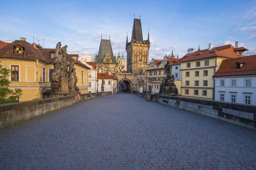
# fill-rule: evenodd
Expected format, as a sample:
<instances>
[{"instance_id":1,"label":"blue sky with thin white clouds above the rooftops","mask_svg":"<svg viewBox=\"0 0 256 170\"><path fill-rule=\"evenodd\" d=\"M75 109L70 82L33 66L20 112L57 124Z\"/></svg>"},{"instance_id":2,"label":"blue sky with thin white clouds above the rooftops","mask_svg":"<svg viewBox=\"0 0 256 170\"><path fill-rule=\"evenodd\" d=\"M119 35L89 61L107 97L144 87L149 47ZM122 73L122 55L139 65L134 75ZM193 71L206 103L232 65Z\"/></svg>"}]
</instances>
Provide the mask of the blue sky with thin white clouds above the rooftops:
<instances>
[{"instance_id":1,"label":"blue sky with thin white clouds above the rooftops","mask_svg":"<svg viewBox=\"0 0 256 170\"><path fill-rule=\"evenodd\" d=\"M114 55L126 58L126 36L131 41L133 20L141 15L143 39L150 36L149 61L187 54L239 41L256 54L256 1L4 1L0 0L0 40L20 37L44 48L60 41L69 54L98 54L109 39Z\"/></svg>"}]
</instances>

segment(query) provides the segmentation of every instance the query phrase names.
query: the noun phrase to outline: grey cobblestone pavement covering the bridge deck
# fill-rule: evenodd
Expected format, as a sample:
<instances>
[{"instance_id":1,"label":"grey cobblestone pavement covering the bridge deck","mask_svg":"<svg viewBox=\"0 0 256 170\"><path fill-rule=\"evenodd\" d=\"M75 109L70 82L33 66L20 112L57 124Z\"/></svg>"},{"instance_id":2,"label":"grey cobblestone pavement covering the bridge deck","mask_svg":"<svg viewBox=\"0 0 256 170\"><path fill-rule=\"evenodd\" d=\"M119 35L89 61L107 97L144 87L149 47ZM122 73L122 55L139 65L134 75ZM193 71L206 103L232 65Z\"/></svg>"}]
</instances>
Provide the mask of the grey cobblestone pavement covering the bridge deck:
<instances>
[{"instance_id":1,"label":"grey cobblestone pavement covering the bridge deck","mask_svg":"<svg viewBox=\"0 0 256 170\"><path fill-rule=\"evenodd\" d=\"M256 132L133 94L0 130L0 169L256 169Z\"/></svg>"}]
</instances>

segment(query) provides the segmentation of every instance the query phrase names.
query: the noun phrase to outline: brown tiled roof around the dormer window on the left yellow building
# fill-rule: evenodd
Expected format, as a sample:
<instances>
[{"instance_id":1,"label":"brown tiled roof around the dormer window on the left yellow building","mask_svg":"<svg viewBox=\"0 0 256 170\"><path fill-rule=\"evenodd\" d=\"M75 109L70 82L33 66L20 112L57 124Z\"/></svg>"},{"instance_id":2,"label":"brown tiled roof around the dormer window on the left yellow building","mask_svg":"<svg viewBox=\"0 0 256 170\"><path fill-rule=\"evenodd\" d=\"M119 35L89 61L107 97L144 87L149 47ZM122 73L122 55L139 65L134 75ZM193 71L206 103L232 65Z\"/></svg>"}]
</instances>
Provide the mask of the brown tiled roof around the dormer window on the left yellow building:
<instances>
[{"instance_id":1,"label":"brown tiled roof around the dormer window on the left yellow building","mask_svg":"<svg viewBox=\"0 0 256 170\"><path fill-rule=\"evenodd\" d=\"M20 45L23 47L23 54L15 53L15 46ZM47 62L43 55L33 45L23 40L15 40L12 43L0 49L0 58L10 58L17 60L32 60Z\"/></svg>"}]
</instances>

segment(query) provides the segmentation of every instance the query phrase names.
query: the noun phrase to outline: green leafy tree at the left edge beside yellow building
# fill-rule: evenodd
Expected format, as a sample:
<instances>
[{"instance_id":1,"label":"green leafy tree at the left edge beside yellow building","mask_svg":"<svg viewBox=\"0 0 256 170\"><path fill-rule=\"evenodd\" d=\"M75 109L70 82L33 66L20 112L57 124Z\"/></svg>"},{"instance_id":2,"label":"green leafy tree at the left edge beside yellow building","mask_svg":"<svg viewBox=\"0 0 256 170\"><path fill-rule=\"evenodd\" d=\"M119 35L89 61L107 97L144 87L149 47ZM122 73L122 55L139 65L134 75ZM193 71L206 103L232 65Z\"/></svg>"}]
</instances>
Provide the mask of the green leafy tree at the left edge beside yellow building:
<instances>
[{"instance_id":1,"label":"green leafy tree at the left edge beside yellow building","mask_svg":"<svg viewBox=\"0 0 256 170\"><path fill-rule=\"evenodd\" d=\"M0 104L12 103L17 97L22 95L21 89L9 89L11 81L9 80L10 69L6 69L0 64Z\"/></svg>"}]
</instances>

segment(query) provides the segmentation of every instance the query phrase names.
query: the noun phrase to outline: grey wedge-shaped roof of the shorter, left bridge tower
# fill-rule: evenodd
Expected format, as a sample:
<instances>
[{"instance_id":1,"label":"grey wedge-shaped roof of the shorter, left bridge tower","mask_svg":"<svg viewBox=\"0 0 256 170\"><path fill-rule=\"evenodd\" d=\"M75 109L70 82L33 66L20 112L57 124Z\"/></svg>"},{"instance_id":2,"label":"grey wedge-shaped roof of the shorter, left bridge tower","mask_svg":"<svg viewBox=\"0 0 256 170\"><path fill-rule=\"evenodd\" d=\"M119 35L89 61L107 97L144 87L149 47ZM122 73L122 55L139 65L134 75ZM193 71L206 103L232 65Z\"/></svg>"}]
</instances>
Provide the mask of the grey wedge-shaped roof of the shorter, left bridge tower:
<instances>
[{"instance_id":1,"label":"grey wedge-shaped roof of the shorter, left bridge tower","mask_svg":"<svg viewBox=\"0 0 256 170\"><path fill-rule=\"evenodd\" d=\"M112 50L110 40L109 39L101 39L99 53L98 53L98 61L97 62L98 63L103 63L103 59L104 59L104 57L106 56L107 53L109 54L109 56L112 60L112 63L117 63L115 61L115 57L114 57L114 54L113 54L113 50Z\"/></svg>"}]
</instances>

